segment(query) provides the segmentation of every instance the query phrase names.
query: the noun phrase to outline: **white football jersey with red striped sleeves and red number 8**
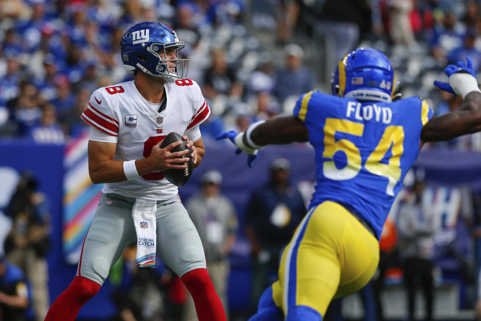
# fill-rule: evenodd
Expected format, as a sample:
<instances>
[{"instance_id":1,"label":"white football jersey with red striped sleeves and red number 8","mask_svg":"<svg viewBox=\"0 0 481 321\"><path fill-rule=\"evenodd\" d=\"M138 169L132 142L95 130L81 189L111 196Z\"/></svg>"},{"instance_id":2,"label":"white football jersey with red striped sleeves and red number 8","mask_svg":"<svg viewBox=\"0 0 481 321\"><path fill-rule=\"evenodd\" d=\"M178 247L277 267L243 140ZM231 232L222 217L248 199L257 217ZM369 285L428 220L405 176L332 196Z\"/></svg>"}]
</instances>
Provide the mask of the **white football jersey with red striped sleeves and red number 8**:
<instances>
[{"instance_id":1,"label":"white football jersey with red striped sleeves and red number 8","mask_svg":"<svg viewBox=\"0 0 481 321\"><path fill-rule=\"evenodd\" d=\"M131 161L150 155L152 146L174 131L192 141L200 138L199 125L210 109L196 82L180 79L164 85L167 98L162 112L155 110L139 93L134 81L99 88L90 97L81 117L117 142L113 159ZM106 183L104 193L148 200L168 200L177 194L161 172L142 175L131 181Z\"/></svg>"}]
</instances>

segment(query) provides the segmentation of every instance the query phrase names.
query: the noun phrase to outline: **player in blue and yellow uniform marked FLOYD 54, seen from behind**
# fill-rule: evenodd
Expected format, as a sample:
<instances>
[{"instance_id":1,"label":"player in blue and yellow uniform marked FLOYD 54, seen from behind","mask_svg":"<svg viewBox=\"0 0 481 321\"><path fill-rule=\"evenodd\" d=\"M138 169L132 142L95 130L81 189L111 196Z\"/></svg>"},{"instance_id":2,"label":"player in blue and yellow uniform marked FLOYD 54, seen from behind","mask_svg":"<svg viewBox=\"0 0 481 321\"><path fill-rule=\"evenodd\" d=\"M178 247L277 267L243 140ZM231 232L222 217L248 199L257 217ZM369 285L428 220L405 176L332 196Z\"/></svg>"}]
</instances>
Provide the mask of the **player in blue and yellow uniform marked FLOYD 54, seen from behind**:
<instances>
[{"instance_id":1,"label":"player in blue and yellow uniform marked FLOYD 54, seen from behind","mask_svg":"<svg viewBox=\"0 0 481 321\"><path fill-rule=\"evenodd\" d=\"M481 91L467 61L445 69L449 84L435 83L464 98L437 118L420 97L393 101L391 63L378 50L358 48L339 62L333 95L308 92L293 116L219 135L248 153L250 164L269 143L309 141L315 148L309 211L283 253L279 280L251 321L322 320L331 299L371 279L383 223L420 146L481 130Z\"/></svg>"}]
</instances>

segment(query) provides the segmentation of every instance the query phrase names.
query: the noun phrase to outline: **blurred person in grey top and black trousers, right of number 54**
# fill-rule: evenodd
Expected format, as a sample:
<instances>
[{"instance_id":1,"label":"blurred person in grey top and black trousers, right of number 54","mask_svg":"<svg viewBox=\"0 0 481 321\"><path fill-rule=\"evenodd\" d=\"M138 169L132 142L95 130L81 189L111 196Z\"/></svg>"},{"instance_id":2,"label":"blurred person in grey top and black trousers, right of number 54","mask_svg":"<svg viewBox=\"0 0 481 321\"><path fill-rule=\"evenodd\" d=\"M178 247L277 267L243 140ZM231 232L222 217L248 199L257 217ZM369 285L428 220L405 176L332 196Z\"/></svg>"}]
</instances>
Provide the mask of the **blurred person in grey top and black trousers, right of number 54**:
<instances>
[{"instance_id":1,"label":"blurred person in grey top and black trousers, right of number 54","mask_svg":"<svg viewBox=\"0 0 481 321\"><path fill-rule=\"evenodd\" d=\"M404 284L407 290L409 321L414 321L416 285L421 284L425 302L425 319L432 321L434 284L433 236L437 229L434 211L423 204L424 182L416 178L406 202L399 207L400 255L404 260Z\"/></svg>"}]
</instances>

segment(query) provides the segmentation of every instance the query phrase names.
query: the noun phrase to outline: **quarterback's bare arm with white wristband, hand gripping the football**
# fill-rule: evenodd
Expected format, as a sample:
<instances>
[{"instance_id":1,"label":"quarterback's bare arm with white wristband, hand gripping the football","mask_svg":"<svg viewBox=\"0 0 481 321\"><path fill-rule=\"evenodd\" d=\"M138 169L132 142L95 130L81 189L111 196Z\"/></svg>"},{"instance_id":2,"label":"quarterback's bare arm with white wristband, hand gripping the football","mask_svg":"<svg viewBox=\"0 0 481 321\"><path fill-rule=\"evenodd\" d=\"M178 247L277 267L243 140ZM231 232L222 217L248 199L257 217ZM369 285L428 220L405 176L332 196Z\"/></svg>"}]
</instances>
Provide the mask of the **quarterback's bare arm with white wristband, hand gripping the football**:
<instances>
[{"instance_id":1,"label":"quarterback's bare arm with white wristband, hand gripping the football","mask_svg":"<svg viewBox=\"0 0 481 321\"><path fill-rule=\"evenodd\" d=\"M126 173L124 163L129 162L113 159L115 149L117 148L116 143L89 140L89 175L92 183L124 182L151 172L160 172L167 169L184 169L185 165L183 164L189 160L189 158L185 157L185 154L189 150L170 152L172 148L179 146L182 142L176 141L164 148L160 148L161 143L159 141L152 147L148 157L132 160L131 165L133 168L129 173ZM177 158L180 156L184 157Z\"/></svg>"}]
</instances>

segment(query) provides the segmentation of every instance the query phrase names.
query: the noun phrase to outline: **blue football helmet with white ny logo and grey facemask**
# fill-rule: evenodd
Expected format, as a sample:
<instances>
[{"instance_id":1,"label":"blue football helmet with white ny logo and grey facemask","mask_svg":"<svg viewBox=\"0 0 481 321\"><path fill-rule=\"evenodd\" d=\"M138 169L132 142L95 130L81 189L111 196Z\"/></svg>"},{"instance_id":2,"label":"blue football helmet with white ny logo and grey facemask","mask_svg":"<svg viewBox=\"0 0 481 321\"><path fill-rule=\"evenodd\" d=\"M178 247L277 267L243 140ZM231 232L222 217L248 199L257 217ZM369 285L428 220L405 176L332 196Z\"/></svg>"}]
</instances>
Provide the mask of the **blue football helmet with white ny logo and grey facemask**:
<instances>
[{"instance_id":1,"label":"blue football helmet with white ny logo and grey facemask","mask_svg":"<svg viewBox=\"0 0 481 321\"><path fill-rule=\"evenodd\" d=\"M120 55L125 70L140 70L148 75L173 82L187 76L187 59L178 59L178 50L184 47L175 31L158 21L144 21L130 27L120 40ZM170 52L175 59L162 59ZM175 63L175 71L169 71L168 62Z\"/></svg>"}]
</instances>

